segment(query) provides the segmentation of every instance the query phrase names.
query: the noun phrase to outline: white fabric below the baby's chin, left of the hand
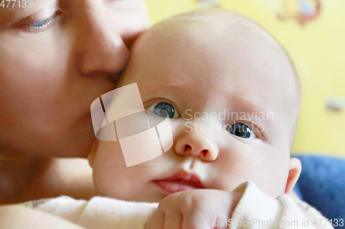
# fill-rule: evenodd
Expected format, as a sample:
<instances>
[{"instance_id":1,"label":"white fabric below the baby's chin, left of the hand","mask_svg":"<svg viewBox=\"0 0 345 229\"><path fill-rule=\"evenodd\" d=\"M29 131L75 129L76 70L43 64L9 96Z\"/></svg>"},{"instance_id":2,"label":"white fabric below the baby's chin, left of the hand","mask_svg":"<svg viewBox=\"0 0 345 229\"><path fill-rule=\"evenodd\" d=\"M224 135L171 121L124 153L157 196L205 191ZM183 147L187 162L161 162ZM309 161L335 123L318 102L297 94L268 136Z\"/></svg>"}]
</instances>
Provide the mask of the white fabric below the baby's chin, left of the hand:
<instances>
[{"instance_id":1,"label":"white fabric below the baby's chin, left of the hand","mask_svg":"<svg viewBox=\"0 0 345 229\"><path fill-rule=\"evenodd\" d=\"M145 227L158 204L122 201L107 197L93 197L90 201L57 197L33 206L50 212L88 229Z\"/></svg>"}]
</instances>

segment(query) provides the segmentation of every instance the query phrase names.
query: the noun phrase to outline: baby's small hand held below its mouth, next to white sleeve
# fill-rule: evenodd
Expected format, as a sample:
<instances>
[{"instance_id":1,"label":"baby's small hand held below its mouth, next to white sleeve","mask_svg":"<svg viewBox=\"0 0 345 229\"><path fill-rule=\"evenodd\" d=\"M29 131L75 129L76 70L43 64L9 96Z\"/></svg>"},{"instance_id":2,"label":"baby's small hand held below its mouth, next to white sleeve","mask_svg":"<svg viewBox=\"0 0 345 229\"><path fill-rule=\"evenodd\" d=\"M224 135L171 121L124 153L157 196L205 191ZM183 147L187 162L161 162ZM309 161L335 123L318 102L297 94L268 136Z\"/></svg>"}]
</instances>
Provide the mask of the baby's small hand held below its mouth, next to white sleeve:
<instances>
[{"instance_id":1,"label":"baby's small hand held below its mouth, next to white sleeve","mask_svg":"<svg viewBox=\"0 0 345 229\"><path fill-rule=\"evenodd\" d=\"M198 189L165 197L145 229L209 229L217 221L228 221L242 193ZM225 223L224 223L225 224Z\"/></svg>"}]
</instances>

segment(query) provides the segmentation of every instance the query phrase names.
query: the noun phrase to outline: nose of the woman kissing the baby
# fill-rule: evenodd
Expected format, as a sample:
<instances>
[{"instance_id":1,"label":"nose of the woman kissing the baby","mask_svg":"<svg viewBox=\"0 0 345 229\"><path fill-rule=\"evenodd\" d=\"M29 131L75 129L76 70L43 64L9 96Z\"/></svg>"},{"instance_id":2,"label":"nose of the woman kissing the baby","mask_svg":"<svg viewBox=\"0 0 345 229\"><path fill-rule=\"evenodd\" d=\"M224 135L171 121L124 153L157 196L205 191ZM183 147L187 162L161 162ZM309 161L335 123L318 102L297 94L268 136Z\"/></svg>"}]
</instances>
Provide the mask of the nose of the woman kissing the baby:
<instances>
[{"instance_id":1,"label":"nose of the woman kissing the baby","mask_svg":"<svg viewBox=\"0 0 345 229\"><path fill-rule=\"evenodd\" d=\"M135 22L126 21L121 12L108 10L103 1L84 2L79 13L80 32L76 41L79 71L82 74L120 72L129 58L124 43L124 39L126 42L130 41L126 26L130 27L130 24ZM144 29L144 26L137 28L138 32Z\"/></svg>"}]
</instances>

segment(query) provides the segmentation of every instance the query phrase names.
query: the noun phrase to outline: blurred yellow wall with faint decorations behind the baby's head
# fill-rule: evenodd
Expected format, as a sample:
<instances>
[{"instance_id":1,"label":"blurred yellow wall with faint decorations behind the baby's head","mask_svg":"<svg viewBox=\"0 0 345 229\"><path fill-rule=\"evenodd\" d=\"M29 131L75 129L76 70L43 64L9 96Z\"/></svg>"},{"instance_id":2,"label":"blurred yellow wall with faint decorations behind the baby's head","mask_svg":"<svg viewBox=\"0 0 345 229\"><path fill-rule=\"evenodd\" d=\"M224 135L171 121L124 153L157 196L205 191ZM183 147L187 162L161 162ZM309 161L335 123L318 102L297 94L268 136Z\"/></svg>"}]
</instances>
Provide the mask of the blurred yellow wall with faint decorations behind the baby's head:
<instances>
[{"instance_id":1,"label":"blurred yellow wall with faint decorations behind the baby's head","mask_svg":"<svg viewBox=\"0 0 345 229\"><path fill-rule=\"evenodd\" d=\"M293 153L345 157L344 0L146 0L152 25L218 7L257 21L287 50L302 85Z\"/></svg>"}]
</instances>

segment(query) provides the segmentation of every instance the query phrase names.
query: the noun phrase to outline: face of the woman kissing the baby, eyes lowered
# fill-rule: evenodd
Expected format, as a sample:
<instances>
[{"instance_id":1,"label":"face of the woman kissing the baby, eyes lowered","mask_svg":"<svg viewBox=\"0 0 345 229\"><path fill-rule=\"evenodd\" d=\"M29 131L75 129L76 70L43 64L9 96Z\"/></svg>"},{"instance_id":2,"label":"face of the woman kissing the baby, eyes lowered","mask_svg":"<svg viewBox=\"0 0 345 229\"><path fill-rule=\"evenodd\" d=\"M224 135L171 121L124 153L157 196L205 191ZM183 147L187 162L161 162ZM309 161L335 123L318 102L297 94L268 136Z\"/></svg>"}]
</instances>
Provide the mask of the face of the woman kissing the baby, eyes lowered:
<instances>
[{"instance_id":1,"label":"face of the woman kissing the baby, eyes lowered","mask_svg":"<svg viewBox=\"0 0 345 229\"><path fill-rule=\"evenodd\" d=\"M150 25L144 1L13 2L0 6L0 146L85 157L91 102L115 88Z\"/></svg>"}]
</instances>

